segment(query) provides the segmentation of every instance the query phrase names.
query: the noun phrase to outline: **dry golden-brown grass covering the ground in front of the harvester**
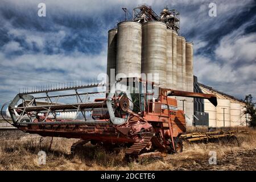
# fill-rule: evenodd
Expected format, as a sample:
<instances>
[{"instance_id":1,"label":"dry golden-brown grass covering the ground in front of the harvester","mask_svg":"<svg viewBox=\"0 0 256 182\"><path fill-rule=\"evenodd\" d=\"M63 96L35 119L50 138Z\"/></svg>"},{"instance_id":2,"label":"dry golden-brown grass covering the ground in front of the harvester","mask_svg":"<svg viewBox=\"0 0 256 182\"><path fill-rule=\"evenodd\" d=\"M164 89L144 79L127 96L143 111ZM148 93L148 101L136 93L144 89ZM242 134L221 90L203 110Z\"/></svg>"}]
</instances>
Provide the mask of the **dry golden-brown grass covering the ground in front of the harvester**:
<instances>
[{"instance_id":1,"label":"dry golden-brown grass covering the ground in front of the harvester","mask_svg":"<svg viewBox=\"0 0 256 182\"><path fill-rule=\"evenodd\" d=\"M237 135L238 142L184 143L181 154L167 155L163 159L143 159L126 162L124 151L107 152L100 146L86 144L79 155L71 155L70 147L76 139L51 138L1 140L0 170L172 170L197 169L208 161L209 151L216 151L217 158L227 154L256 148L256 131ZM26 136L27 137L27 136ZM239 143L239 144L238 144ZM46 165L38 164L38 152L46 151ZM204 168L203 168L204 169Z\"/></svg>"}]
</instances>

